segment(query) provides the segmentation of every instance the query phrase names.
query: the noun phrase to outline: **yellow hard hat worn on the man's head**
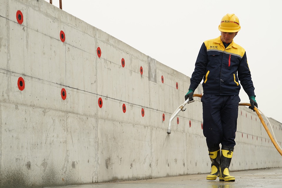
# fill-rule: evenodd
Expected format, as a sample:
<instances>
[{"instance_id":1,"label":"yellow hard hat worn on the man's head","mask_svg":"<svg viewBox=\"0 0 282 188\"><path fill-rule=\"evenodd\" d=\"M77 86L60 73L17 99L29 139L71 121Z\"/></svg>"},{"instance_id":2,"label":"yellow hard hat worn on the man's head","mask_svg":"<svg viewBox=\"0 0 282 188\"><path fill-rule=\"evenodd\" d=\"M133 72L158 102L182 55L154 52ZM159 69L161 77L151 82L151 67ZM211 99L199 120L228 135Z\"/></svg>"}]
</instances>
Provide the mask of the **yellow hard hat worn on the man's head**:
<instances>
[{"instance_id":1,"label":"yellow hard hat worn on the man's head","mask_svg":"<svg viewBox=\"0 0 282 188\"><path fill-rule=\"evenodd\" d=\"M238 32L241 29L238 17L235 14L226 14L222 17L218 29L228 33Z\"/></svg>"}]
</instances>

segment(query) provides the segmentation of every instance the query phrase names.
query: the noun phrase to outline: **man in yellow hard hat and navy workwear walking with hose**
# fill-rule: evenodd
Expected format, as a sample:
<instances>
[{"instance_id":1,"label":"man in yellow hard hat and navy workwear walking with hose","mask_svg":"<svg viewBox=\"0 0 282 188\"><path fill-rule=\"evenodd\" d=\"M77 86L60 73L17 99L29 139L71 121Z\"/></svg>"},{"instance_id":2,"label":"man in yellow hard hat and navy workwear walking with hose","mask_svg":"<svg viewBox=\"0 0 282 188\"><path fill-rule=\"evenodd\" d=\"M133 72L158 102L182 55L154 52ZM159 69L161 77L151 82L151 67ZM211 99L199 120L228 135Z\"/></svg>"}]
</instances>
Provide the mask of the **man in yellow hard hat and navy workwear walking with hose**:
<instances>
[{"instance_id":1,"label":"man in yellow hard hat and navy workwear walking with hose","mask_svg":"<svg viewBox=\"0 0 282 188\"><path fill-rule=\"evenodd\" d=\"M193 94L203 80L203 133L206 137L209 157L212 161L208 180L233 182L229 166L234 152L237 129L240 83L250 99L251 110L256 95L244 48L233 39L241 29L235 14L226 14L219 25L221 35L204 41L195 63L185 101L193 100ZM221 144L221 150L220 146Z\"/></svg>"}]
</instances>

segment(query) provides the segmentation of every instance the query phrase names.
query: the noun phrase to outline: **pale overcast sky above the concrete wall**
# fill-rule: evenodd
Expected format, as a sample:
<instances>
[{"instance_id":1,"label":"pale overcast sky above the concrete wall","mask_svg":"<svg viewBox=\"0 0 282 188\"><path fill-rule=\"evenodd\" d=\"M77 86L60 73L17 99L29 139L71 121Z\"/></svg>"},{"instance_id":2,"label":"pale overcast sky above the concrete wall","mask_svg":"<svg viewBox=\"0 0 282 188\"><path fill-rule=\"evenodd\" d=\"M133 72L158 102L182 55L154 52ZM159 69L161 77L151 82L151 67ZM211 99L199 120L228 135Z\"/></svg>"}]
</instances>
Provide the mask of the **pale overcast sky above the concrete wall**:
<instances>
[{"instance_id":1,"label":"pale overcast sky above the concrete wall","mask_svg":"<svg viewBox=\"0 0 282 188\"><path fill-rule=\"evenodd\" d=\"M282 1L62 1L69 14L189 77L202 43L220 35L225 14L236 14L241 30L234 41L246 50L259 109L282 122ZM249 103L243 88L239 95Z\"/></svg>"}]
</instances>

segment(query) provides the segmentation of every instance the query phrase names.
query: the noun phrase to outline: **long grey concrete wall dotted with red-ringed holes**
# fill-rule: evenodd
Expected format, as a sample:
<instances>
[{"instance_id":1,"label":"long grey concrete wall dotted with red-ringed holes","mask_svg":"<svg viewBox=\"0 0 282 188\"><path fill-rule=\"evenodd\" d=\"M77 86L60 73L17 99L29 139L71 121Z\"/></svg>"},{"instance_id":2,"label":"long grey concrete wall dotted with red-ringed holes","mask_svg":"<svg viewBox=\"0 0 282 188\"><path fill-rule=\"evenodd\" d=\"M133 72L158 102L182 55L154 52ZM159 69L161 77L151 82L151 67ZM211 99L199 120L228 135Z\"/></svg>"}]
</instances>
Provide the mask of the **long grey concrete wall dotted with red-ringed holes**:
<instances>
[{"instance_id":1,"label":"long grey concrete wall dotted with red-ringed holes","mask_svg":"<svg viewBox=\"0 0 282 188\"><path fill-rule=\"evenodd\" d=\"M199 101L166 133L186 75L43 0L1 1L0 57L0 187L210 172ZM270 121L281 145L282 125ZM236 143L231 171L282 167L246 107Z\"/></svg>"}]
</instances>

